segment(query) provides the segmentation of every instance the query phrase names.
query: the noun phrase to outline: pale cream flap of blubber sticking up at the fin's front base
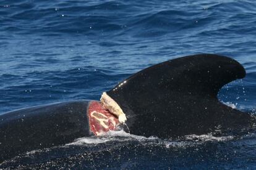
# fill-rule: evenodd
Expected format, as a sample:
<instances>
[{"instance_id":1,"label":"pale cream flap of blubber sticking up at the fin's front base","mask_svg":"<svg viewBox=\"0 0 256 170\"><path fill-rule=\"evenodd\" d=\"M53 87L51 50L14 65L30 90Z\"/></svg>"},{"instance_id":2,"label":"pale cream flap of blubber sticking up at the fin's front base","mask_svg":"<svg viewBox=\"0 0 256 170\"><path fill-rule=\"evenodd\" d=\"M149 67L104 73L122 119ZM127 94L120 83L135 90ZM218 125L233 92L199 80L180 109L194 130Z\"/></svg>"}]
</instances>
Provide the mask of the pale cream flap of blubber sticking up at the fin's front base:
<instances>
[{"instance_id":1,"label":"pale cream flap of blubber sticking up at the fin's front base","mask_svg":"<svg viewBox=\"0 0 256 170\"><path fill-rule=\"evenodd\" d=\"M126 114L124 114L122 108L119 107L119 105L108 94L106 94L106 92L103 92L100 101L106 109L118 117L119 123L126 122Z\"/></svg>"}]
</instances>

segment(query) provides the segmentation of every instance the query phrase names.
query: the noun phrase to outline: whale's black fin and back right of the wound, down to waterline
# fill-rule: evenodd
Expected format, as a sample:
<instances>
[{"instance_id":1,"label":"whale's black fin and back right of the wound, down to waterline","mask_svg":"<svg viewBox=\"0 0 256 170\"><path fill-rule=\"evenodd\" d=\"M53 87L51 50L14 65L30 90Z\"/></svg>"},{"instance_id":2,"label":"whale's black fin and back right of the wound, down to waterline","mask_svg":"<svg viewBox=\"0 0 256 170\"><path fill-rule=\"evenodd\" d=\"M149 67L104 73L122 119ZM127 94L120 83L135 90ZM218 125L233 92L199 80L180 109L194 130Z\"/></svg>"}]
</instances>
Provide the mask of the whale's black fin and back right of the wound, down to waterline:
<instances>
[{"instance_id":1,"label":"whale's black fin and back right of the wound, down to waterline","mask_svg":"<svg viewBox=\"0 0 256 170\"><path fill-rule=\"evenodd\" d=\"M250 116L223 105L218 91L245 76L236 60L199 54L148 67L107 92L127 115L132 134L175 137L216 127L241 129Z\"/></svg>"}]
</instances>

